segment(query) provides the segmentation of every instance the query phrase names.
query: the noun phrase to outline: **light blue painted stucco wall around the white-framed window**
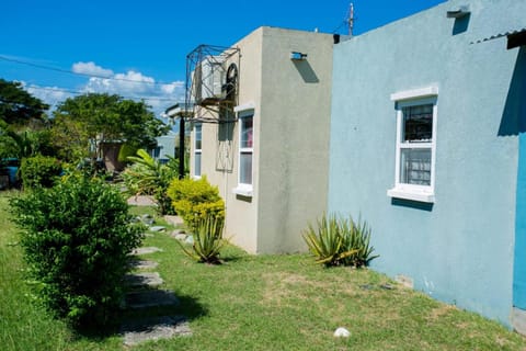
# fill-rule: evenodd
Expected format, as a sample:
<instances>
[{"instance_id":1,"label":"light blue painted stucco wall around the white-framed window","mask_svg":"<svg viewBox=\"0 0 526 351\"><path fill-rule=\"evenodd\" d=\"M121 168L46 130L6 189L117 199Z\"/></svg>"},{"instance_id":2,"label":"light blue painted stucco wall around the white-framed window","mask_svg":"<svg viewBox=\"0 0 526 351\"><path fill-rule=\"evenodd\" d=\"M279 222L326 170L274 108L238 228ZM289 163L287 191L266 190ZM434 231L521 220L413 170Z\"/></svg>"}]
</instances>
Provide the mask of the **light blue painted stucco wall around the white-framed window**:
<instances>
[{"instance_id":1,"label":"light blue painted stucco wall around the white-framed window","mask_svg":"<svg viewBox=\"0 0 526 351\"><path fill-rule=\"evenodd\" d=\"M469 3L464 20L446 12ZM329 211L361 215L380 258L373 269L510 325L518 135L505 111L526 1L448 1L334 46ZM523 21L523 22L522 22ZM435 203L393 201L390 94L435 84ZM512 131L516 132L516 131ZM526 160L526 159L525 159Z\"/></svg>"}]
</instances>

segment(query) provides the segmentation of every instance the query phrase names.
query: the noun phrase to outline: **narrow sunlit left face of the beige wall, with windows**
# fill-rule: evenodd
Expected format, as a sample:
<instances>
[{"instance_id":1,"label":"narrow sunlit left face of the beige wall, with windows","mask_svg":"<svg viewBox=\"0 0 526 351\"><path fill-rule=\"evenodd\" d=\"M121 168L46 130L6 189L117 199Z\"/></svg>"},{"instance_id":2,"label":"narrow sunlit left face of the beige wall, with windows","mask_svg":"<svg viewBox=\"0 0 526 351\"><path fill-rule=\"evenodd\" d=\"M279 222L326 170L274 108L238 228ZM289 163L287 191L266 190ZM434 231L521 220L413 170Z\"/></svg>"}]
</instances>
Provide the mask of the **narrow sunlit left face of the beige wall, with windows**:
<instances>
[{"instance_id":1,"label":"narrow sunlit left face of the beige wall, with windows","mask_svg":"<svg viewBox=\"0 0 526 351\"><path fill-rule=\"evenodd\" d=\"M233 55L225 64L236 63L239 72L239 95L237 104L254 103L254 131L259 128L259 102L261 95L261 44L262 30L255 30L231 47L238 47L240 54ZM258 251L258 193L252 197L235 194L238 185L239 128L238 123L203 123L202 174L217 185L226 205L225 236L235 245L251 253ZM194 135L192 134L192 140ZM258 189L258 148L259 137L254 139L253 186ZM193 150L191 173L193 174Z\"/></svg>"}]
</instances>

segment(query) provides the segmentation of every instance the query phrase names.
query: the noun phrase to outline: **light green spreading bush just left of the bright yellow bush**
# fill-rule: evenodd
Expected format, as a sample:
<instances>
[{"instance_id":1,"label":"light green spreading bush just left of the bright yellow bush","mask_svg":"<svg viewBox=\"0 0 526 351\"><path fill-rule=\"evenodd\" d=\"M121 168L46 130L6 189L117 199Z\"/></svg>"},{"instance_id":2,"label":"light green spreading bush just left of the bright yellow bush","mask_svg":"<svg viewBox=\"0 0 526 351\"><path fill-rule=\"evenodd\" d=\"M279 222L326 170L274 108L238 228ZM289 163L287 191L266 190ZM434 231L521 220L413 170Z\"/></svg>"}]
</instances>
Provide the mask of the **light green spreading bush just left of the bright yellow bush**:
<instances>
[{"instance_id":1,"label":"light green spreading bush just left of the bright yellow bush","mask_svg":"<svg viewBox=\"0 0 526 351\"><path fill-rule=\"evenodd\" d=\"M167 190L170 182L178 178L178 163L172 160L161 165L142 149L137 150L137 156L129 156L127 159L134 163L128 166L121 177L128 194L152 195L161 215L175 214Z\"/></svg>"}]
</instances>

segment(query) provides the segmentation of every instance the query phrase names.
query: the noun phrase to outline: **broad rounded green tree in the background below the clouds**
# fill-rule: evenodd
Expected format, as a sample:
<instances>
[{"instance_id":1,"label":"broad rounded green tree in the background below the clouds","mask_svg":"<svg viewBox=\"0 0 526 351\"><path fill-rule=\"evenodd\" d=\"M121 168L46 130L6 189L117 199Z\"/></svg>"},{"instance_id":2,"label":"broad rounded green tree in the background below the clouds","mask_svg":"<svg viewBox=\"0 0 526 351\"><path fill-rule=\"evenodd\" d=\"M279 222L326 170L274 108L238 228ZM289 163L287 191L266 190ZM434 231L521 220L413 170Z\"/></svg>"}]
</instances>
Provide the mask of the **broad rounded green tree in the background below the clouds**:
<instances>
[{"instance_id":1,"label":"broad rounded green tree in the background below the clouds","mask_svg":"<svg viewBox=\"0 0 526 351\"><path fill-rule=\"evenodd\" d=\"M169 129L144 101L107 93L69 98L54 115L54 139L62 149L62 157L69 160L101 155L101 143L107 141L151 148L156 137Z\"/></svg>"}]
</instances>

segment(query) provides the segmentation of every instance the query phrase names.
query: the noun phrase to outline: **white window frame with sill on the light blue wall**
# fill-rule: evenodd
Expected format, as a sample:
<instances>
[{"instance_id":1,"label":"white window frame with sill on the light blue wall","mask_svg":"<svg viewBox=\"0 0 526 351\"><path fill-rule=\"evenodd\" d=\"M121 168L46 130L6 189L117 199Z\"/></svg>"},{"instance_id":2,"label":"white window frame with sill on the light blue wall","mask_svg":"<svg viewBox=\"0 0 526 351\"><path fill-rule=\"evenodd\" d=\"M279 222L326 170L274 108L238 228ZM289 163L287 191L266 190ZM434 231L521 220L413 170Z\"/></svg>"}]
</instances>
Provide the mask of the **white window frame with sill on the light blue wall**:
<instances>
[{"instance_id":1,"label":"white window frame with sill on the light blue wall","mask_svg":"<svg viewBox=\"0 0 526 351\"><path fill-rule=\"evenodd\" d=\"M436 160L436 125L437 125L437 100L438 88L436 86L401 91L391 94L391 101L395 101L397 107L397 144L395 160L395 188L387 191L387 195L396 199L404 199L418 202L435 202L435 160ZM432 139L425 143L404 143L403 135L403 109L409 106L419 106L433 104L433 126ZM430 185L408 184L400 182L401 179L401 154L403 149L431 149L431 176Z\"/></svg>"}]
</instances>

